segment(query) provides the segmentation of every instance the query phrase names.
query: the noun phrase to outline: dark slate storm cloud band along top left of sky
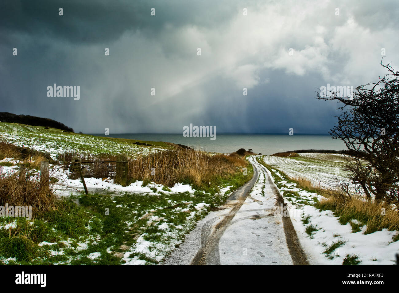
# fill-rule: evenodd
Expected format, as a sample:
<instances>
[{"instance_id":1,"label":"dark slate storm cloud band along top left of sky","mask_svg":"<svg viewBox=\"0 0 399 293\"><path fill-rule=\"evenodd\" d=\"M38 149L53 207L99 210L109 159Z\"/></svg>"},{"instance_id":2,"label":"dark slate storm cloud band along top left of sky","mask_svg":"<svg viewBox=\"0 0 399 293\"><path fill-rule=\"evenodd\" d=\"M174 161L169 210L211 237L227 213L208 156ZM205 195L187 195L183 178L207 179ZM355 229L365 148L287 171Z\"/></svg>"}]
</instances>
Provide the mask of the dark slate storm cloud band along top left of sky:
<instances>
[{"instance_id":1,"label":"dark slate storm cloud band along top left of sky","mask_svg":"<svg viewBox=\"0 0 399 293\"><path fill-rule=\"evenodd\" d=\"M153 7L156 18L148 17ZM64 17L59 17L59 8ZM0 3L0 27L6 35L22 33L87 44L117 40L128 30L158 35L168 22L209 26L227 21L233 9L233 5L216 6L211 1L5 0Z\"/></svg>"}]
</instances>

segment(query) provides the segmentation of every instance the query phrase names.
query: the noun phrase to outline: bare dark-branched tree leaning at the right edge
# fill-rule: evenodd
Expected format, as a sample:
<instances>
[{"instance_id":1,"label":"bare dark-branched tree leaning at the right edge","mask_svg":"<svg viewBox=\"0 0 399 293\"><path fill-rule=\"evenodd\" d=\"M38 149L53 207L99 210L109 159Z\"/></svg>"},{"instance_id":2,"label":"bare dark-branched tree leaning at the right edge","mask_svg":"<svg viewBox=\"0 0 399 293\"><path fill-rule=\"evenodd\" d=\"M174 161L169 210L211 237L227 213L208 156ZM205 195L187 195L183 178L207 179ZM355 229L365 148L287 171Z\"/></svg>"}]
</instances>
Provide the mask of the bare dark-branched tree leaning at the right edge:
<instances>
[{"instance_id":1,"label":"bare dark-branched tree leaning at the right edge","mask_svg":"<svg viewBox=\"0 0 399 293\"><path fill-rule=\"evenodd\" d=\"M360 85L352 95L317 92L316 99L338 101L341 115L329 133L355 155L346 170L357 191L399 208L399 71L381 65L389 73L378 82Z\"/></svg>"}]
</instances>

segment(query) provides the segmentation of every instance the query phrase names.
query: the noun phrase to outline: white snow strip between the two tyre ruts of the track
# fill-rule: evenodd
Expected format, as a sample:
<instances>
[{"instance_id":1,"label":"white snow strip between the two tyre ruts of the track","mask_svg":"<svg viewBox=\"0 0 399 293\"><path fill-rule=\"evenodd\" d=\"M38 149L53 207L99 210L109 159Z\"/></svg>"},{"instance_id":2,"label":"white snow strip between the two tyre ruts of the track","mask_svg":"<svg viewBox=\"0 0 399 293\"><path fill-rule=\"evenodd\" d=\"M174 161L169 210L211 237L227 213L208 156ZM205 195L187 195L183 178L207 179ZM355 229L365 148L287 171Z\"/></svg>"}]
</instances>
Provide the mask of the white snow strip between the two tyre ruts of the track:
<instances>
[{"instance_id":1,"label":"white snow strip between the two tyre ruts of the track","mask_svg":"<svg viewBox=\"0 0 399 293\"><path fill-rule=\"evenodd\" d=\"M292 265L280 209L265 171L219 241L221 265Z\"/></svg>"}]
</instances>

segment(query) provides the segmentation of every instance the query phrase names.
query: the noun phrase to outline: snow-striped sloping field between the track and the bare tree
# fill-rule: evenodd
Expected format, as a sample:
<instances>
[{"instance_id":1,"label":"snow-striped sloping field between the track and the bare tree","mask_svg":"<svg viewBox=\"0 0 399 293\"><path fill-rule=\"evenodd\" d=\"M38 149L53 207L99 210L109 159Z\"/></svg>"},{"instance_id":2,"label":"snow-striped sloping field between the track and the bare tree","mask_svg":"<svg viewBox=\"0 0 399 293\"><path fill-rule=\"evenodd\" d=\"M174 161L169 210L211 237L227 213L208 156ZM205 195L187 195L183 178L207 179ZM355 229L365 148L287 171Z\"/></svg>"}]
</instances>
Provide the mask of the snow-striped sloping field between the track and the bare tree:
<instances>
[{"instance_id":1,"label":"snow-striped sloping field between the track and the bare tree","mask_svg":"<svg viewBox=\"0 0 399 293\"><path fill-rule=\"evenodd\" d=\"M334 153L300 153L299 157L276 157L265 155L263 160L289 177L310 180L314 185L334 187L336 179L346 179L344 171L350 157Z\"/></svg>"}]
</instances>

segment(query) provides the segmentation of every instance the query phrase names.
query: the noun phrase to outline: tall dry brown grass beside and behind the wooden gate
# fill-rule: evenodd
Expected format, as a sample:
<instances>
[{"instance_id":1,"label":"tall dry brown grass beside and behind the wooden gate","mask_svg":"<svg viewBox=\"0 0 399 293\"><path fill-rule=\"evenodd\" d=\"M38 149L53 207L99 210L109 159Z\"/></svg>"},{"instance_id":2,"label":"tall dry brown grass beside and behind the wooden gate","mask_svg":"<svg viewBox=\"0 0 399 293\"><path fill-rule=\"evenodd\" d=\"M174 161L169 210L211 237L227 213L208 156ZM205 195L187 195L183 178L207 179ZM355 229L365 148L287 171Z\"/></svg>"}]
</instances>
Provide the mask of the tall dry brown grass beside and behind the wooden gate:
<instances>
[{"instance_id":1,"label":"tall dry brown grass beside and behind the wooden gate","mask_svg":"<svg viewBox=\"0 0 399 293\"><path fill-rule=\"evenodd\" d=\"M84 177L109 177L106 174L109 169L99 163L85 164L85 161L116 161L116 156L109 154L82 155L75 152L57 155L57 159L70 162L74 156L82 159ZM246 164L245 157L240 157L235 153L212 156L207 152L176 146L170 151L159 151L150 155L141 153L130 157L128 181L156 182L170 187L174 183L190 182L194 186L200 186L213 181L215 177L232 175L237 172L237 167L245 167ZM115 167L115 162L107 163L107 165ZM151 170L152 168L155 170Z\"/></svg>"}]
</instances>

